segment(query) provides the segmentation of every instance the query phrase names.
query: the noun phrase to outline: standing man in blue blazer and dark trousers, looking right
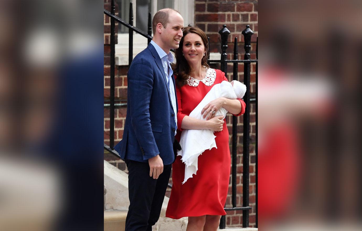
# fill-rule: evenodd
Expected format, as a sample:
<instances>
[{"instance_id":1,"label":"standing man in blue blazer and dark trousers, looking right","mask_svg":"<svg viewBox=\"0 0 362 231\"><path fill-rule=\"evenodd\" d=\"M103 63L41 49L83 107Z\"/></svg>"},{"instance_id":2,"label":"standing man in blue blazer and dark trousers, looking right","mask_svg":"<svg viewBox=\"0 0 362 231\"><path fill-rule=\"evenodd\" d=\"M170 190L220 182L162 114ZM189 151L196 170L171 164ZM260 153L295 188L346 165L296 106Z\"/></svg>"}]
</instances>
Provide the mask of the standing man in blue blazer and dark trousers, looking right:
<instances>
[{"instance_id":1,"label":"standing man in blue blazer and dark trousers, looking right","mask_svg":"<svg viewBox=\"0 0 362 231\"><path fill-rule=\"evenodd\" d=\"M160 217L177 129L170 50L178 48L183 27L176 10L159 10L152 20L152 41L136 55L128 71L126 123L122 141L114 147L129 171L126 231L152 230Z\"/></svg>"}]
</instances>

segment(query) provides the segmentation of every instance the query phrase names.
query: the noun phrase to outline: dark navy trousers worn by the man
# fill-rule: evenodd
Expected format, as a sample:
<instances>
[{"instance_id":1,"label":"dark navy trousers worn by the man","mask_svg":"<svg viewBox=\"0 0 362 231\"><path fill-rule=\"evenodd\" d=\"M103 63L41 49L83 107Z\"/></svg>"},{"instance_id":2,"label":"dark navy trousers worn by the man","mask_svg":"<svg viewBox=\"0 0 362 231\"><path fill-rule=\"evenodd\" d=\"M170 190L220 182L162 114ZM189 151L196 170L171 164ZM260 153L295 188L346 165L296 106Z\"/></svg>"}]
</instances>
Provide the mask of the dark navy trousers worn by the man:
<instances>
[{"instance_id":1,"label":"dark navy trousers worn by the man","mask_svg":"<svg viewBox=\"0 0 362 231\"><path fill-rule=\"evenodd\" d=\"M172 165L164 165L159 178L153 179L148 163L126 160L126 164L130 198L126 231L152 231L160 217Z\"/></svg>"}]
</instances>

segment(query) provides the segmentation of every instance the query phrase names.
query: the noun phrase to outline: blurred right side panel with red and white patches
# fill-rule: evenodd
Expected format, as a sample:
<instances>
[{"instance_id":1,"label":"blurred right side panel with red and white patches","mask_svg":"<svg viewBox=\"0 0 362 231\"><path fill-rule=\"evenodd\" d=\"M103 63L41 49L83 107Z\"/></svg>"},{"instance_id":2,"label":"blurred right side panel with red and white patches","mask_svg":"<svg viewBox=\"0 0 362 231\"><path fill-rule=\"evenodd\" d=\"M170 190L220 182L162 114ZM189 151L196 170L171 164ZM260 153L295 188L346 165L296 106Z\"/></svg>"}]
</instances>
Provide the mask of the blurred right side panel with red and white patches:
<instances>
[{"instance_id":1,"label":"blurred right side panel with red and white patches","mask_svg":"<svg viewBox=\"0 0 362 231\"><path fill-rule=\"evenodd\" d=\"M259 9L258 227L362 230L362 2Z\"/></svg>"}]
</instances>

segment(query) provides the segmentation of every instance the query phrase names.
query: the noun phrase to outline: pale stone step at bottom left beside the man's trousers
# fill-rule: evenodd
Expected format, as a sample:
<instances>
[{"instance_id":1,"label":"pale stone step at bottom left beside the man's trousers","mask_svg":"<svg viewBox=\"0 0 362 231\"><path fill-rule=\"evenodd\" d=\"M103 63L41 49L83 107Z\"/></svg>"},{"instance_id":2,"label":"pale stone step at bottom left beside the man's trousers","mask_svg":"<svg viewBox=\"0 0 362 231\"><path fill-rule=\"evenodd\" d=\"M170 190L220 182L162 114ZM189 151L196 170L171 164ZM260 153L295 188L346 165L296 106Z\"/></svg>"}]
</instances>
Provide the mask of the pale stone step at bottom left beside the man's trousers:
<instances>
[{"instance_id":1,"label":"pale stone step at bottom left beside the man's trousers","mask_svg":"<svg viewBox=\"0 0 362 231\"><path fill-rule=\"evenodd\" d=\"M105 210L104 231L125 231L126 210Z\"/></svg>"}]
</instances>

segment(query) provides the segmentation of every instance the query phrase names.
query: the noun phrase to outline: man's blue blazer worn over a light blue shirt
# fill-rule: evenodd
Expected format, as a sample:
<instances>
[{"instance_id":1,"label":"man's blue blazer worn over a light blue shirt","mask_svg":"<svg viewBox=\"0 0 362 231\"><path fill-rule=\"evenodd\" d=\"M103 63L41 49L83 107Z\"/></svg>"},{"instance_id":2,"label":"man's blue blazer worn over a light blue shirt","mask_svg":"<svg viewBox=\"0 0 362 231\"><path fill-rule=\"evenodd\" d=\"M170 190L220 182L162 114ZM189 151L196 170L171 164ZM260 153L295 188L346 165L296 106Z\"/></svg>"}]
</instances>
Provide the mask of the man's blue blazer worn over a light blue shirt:
<instances>
[{"instance_id":1,"label":"man's blue blazer worn over a light blue shirt","mask_svg":"<svg viewBox=\"0 0 362 231\"><path fill-rule=\"evenodd\" d=\"M151 43L132 61L127 80L123 139L114 149L122 159L148 163L148 159L160 155L164 165L171 164L174 161L174 117L177 115L172 109L160 56ZM170 81L175 86L173 76Z\"/></svg>"}]
</instances>

